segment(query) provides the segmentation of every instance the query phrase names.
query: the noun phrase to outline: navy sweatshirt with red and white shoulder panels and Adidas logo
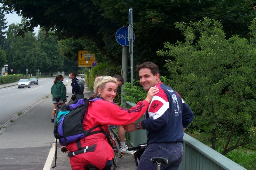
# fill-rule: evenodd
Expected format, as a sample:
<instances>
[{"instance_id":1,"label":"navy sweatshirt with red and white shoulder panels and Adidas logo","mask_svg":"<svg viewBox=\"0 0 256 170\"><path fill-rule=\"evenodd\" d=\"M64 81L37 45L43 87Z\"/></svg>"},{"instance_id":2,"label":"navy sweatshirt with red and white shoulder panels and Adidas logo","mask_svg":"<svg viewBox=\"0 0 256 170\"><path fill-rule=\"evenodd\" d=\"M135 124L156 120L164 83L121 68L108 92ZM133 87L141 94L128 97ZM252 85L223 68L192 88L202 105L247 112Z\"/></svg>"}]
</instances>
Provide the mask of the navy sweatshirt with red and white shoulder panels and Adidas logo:
<instances>
[{"instance_id":1,"label":"navy sweatshirt with red and white shoulder panels and Adidas logo","mask_svg":"<svg viewBox=\"0 0 256 170\"><path fill-rule=\"evenodd\" d=\"M141 122L150 143L183 142L183 128L193 121L194 114L180 95L171 87L159 83L149 104L146 119Z\"/></svg>"}]
</instances>

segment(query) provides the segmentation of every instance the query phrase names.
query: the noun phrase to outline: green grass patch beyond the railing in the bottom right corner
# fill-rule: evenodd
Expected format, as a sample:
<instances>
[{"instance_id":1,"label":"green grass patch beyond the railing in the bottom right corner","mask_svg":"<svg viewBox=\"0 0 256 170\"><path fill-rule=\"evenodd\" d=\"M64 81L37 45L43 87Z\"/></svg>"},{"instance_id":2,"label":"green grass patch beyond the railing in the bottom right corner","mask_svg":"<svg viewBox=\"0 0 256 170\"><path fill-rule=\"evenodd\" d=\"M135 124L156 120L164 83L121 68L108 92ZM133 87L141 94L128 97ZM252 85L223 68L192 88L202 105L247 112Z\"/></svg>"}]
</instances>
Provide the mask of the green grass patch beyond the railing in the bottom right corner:
<instances>
[{"instance_id":1,"label":"green grass patch beyond the railing in the bottom right corner","mask_svg":"<svg viewBox=\"0 0 256 170\"><path fill-rule=\"evenodd\" d=\"M256 151L236 149L225 156L248 170L256 170Z\"/></svg>"}]
</instances>

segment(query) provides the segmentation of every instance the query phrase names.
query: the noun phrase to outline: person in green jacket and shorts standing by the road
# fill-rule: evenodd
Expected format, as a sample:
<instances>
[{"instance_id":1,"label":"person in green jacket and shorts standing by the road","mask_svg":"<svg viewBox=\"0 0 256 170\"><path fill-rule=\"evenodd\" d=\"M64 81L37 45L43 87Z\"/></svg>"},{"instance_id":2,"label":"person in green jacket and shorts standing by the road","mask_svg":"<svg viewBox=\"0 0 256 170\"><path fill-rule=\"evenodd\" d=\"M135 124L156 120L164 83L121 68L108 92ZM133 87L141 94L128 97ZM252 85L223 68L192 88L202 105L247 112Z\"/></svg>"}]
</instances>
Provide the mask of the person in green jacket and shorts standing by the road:
<instances>
[{"instance_id":1,"label":"person in green jacket and shorts standing by the road","mask_svg":"<svg viewBox=\"0 0 256 170\"><path fill-rule=\"evenodd\" d=\"M59 96L60 97L60 106L64 105L65 102L67 101L66 94L67 94L67 89L66 86L62 83L63 81L63 76L58 75L55 80L53 81L53 85L51 88L51 93L52 93L52 101L53 101L53 109L52 109L52 122L54 123L54 115L55 115L55 110L56 109L56 104L57 102L55 101L55 97Z\"/></svg>"}]
</instances>

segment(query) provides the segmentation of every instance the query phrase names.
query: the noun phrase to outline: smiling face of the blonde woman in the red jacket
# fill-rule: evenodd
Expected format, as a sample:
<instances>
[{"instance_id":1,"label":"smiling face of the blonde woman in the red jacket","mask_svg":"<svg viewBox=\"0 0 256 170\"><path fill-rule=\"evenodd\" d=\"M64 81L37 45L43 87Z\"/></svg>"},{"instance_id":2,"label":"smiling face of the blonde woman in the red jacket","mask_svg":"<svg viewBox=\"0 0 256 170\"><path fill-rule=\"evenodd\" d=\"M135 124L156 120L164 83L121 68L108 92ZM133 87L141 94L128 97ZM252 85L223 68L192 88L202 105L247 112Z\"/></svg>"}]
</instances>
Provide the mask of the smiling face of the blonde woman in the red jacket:
<instances>
[{"instance_id":1,"label":"smiling face of the blonde woman in the red jacket","mask_svg":"<svg viewBox=\"0 0 256 170\"><path fill-rule=\"evenodd\" d=\"M116 97L116 83L108 82L105 84L103 90L98 88L98 94L107 101L113 102Z\"/></svg>"}]
</instances>

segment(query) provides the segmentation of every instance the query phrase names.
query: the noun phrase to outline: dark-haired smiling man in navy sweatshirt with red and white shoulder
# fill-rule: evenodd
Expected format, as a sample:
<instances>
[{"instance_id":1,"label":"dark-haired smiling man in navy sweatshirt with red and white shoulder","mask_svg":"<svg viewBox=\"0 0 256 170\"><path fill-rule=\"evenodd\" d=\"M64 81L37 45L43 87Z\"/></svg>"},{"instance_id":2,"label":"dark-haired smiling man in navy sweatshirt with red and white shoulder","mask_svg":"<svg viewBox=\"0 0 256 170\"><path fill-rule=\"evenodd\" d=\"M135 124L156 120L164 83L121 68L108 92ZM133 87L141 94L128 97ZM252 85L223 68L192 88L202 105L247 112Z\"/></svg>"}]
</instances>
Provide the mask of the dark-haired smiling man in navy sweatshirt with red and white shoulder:
<instances>
[{"instance_id":1,"label":"dark-haired smiling man in navy sweatshirt with red and white shoulder","mask_svg":"<svg viewBox=\"0 0 256 170\"><path fill-rule=\"evenodd\" d=\"M152 157L168 159L168 164L162 164L161 169L178 170L183 157L183 131L193 121L194 114L177 92L161 83L156 64L142 63L136 70L144 90L159 88L149 104L146 119L123 126L127 132L147 130L148 147L140 157L137 170L155 170L156 164L150 163Z\"/></svg>"}]
</instances>

